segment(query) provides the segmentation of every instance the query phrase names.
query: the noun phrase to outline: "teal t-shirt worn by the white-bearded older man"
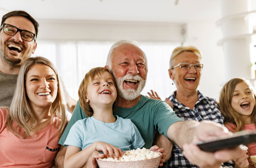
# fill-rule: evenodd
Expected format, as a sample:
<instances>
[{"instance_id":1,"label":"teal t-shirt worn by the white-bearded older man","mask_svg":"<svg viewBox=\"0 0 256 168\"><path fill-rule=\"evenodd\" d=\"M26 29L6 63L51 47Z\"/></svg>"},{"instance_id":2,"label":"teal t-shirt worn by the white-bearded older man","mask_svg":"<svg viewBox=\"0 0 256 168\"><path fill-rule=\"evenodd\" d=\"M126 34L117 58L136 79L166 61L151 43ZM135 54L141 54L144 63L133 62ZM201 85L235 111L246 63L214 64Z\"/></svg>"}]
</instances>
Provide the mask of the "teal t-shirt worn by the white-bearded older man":
<instances>
[{"instance_id":1,"label":"teal t-shirt worn by the white-bearded older man","mask_svg":"<svg viewBox=\"0 0 256 168\"><path fill-rule=\"evenodd\" d=\"M122 118L131 119L145 142L143 147L147 149L152 147L153 139L157 131L167 137L167 130L170 125L177 121L182 121L167 103L161 100L149 99L143 95L141 95L140 101L135 106L131 108L118 106L113 114ZM71 119L59 141L61 145L64 144L72 125L79 119L84 118L86 118L86 115L79 101L77 101Z\"/></svg>"}]
</instances>

